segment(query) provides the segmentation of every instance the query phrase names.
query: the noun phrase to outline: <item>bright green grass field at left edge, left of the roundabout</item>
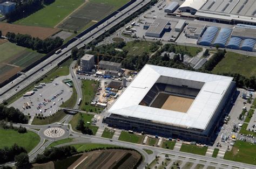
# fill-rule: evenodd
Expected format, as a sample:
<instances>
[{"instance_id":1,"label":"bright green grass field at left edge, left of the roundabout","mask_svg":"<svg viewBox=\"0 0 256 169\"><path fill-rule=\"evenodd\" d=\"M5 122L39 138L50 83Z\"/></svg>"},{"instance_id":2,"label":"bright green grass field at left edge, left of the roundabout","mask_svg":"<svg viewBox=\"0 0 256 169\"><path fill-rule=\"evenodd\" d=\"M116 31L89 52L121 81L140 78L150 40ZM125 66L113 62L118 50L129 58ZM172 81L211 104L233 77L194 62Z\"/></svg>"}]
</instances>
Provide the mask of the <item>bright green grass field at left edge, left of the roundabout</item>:
<instances>
[{"instance_id":1,"label":"bright green grass field at left edge, left of the roundabout","mask_svg":"<svg viewBox=\"0 0 256 169\"><path fill-rule=\"evenodd\" d=\"M18 131L11 129L0 129L0 149L4 146L12 146L16 143L22 146L26 151L30 152L40 142L40 137L32 131L26 133L18 133Z\"/></svg>"}]
</instances>

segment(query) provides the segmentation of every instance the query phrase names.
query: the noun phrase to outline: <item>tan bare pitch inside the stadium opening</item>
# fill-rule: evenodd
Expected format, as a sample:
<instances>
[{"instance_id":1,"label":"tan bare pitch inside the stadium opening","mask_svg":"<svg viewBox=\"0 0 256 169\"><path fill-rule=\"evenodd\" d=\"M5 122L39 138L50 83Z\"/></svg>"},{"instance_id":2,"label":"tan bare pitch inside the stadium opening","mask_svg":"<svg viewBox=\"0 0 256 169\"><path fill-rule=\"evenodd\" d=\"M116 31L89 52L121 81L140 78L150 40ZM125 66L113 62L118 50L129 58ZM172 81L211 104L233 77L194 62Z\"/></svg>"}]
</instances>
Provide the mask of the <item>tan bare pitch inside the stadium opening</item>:
<instances>
[{"instance_id":1,"label":"tan bare pitch inside the stadium opening","mask_svg":"<svg viewBox=\"0 0 256 169\"><path fill-rule=\"evenodd\" d=\"M187 112L193 101L193 98L170 95L161 107L161 109Z\"/></svg>"}]
</instances>

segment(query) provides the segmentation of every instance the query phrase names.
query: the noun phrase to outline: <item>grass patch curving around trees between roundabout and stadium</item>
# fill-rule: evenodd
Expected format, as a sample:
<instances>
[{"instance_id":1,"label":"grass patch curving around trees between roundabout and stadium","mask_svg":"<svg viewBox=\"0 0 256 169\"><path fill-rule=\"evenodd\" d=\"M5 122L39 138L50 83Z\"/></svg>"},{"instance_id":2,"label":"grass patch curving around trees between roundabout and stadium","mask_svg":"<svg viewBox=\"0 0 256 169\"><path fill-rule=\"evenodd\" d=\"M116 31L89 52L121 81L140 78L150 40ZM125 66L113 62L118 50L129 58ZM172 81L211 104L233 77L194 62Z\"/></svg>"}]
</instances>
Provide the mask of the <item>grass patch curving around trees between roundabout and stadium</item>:
<instances>
[{"instance_id":1,"label":"grass patch curving around trees between roundabout and stadium","mask_svg":"<svg viewBox=\"0 0 256 169\"><path fill-rule=\"evenodd\" d=\"M99 127L96 125L87 124L87 122L90 122L90 123L92 122L93 115L84 114L84 113L80 113L80 112L78 114L74 115L72 120L70 121L72 129L76 132L80 132L76 129L77 123L80 118L82 118L84 120L85 126L88 126L89 129L92 130L93 135L95 135Z\"/></svg>"}]
</instances>

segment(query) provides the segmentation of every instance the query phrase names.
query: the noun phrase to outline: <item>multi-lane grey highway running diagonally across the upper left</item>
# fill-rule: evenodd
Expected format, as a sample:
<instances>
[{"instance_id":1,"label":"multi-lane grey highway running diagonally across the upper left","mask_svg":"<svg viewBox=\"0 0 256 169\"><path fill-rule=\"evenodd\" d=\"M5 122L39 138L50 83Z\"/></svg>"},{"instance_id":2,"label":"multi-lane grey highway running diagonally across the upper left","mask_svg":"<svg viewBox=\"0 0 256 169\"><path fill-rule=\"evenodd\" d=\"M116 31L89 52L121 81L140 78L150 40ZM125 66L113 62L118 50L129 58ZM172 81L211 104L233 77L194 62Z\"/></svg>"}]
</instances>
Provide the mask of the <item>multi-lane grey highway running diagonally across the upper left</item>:
<instances>
[{"instance_id":1,"label":"multi-lane grey highway running diagonally across the upper left","mask_svg":"<svg viewBox=\"0 0 256 169\"><path fill-rule=\"evenodd\" d=\"M44 76L44 74L51 71L51 69L55 68L62 60L68 58L71 55L71 50L73 47L77 46L77 48L81 48L84 45L89 44L92 40L101 36L104 32L122 22L122 20L124 20L126 17L132 15L132 13L136 12L149 2L150 0L137 0L122 12L117 13L117 15L113 16L102 25L96 27L89 33L85 34L83 37L71 43L69 46L64 48L61 53L53 54L50 58L44 60L34 68L30 69L25 73L25 75L19 76L19 78L2 87L0 89L0 103L2 103L3 100L8 100L8 98L18 93L19 90L22 90L26 86L30 85L30 83L33 81L36 81L37 79Z\"/></svg>"}]
</instances>

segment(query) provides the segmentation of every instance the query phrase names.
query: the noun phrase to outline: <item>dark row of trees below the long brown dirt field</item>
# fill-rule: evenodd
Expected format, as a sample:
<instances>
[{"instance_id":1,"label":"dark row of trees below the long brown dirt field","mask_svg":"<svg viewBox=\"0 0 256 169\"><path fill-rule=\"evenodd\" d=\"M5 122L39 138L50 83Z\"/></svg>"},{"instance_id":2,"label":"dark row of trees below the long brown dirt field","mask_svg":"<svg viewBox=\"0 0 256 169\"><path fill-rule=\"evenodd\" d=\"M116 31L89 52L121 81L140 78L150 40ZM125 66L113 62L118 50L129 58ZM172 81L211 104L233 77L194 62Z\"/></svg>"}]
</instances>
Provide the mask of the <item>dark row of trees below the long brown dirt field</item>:
<instances>
[{"instance_id":1,"label":"dark row of trees below the long brown dirt field","mask_svg":"<svg viewBox=\"0 0 256 169\"><path fill-rule=\"evenodd\" d=\"M46 38L42 40L31 37L29 34L15 34L12 32L7 32L6 38L8 38L11 43L16 43L19 46L31 48L32 50L36 50L40 53L49 53L63 44L63 39L59 37Z\"/></svg>"}]
</instances>

